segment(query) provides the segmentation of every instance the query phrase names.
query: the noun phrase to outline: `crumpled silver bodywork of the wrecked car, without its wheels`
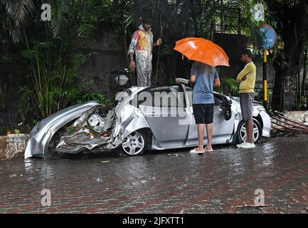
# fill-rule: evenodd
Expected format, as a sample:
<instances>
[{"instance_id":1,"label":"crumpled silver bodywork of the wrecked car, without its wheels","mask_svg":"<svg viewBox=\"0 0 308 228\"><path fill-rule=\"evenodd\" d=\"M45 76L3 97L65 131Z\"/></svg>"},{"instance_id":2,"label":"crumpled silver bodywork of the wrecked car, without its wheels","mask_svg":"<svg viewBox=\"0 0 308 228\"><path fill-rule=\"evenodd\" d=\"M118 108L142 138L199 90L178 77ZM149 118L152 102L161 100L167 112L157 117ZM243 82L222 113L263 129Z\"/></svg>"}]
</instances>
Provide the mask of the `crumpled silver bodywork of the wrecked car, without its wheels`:
<instances>
[{"instance_id":1,"label":"crumpled silver bodywork of the wrecked car, without its wheels","mask_svg":"<svg viewBox=\"0 0 308 228\"><path fill-rule=\"evenodd\" d=\"M140 103L137 98L142 92L154 94L155 91L169 91L174 96L184 92L184 96L176 97L176 105L170 101L168 105L157 107L154 103ZM238 125L242 120L239 98L229 98L214 93L213 144L234 142ZM192 109L192 90L180 84L178 86L162 86L158 88L129 88L121 92L116 100L116 107L110 110L107 117L97 113L99 105L87 102L73 105L42 120L31 132L25 158L46 157L48 143L53 135L63 126L75 120L73 126L78 129L70 135L64 135L55 151L77 153L80 150L113 149L122 144L130 134L147 129L152 137L150 148L165 150L198 145L198 135ZM169 102L169 101L168 101ZM229 110L229 115L225 115ZM166 115L168 114L168 115ZM170 115L169 114L174 114ZM270 116L260 103L253 105L253 117L262 120L262 136L270 137ZM85 124L87 123L87 124ZM96 130L95 130L96 129ZM98 131L97 131L98 130ZM87 135L87 137L85 137ZM206 140L206 135L205 135ZM148 146L148 145L147 145Z\"/></svg>"}]
</instances>

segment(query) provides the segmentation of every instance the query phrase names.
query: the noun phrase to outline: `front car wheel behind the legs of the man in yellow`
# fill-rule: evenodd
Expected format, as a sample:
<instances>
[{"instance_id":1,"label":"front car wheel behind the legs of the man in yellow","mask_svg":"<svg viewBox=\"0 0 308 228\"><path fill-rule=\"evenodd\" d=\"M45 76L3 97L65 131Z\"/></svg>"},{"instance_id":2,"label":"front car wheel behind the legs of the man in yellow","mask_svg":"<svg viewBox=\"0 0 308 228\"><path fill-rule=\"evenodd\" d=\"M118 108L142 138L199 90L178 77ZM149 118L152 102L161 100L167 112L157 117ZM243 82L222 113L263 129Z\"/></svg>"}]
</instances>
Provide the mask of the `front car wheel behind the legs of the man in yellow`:
<instances>
[{"instance_id":1,"label":"front car wheel behind the legs of the man in yellow","mask_svg":"<svg viewBox=\"0 0 308 228\"><path fill-rule=\"evenodd\" d=\"M236 142L242 143L245 141L246 131L245 131L245 121L241 120L238 124L238 130L236 131ZM253 119L253 142L260 142L262 138L262 127L256 119Z\"/></svg>"}]
</instances>

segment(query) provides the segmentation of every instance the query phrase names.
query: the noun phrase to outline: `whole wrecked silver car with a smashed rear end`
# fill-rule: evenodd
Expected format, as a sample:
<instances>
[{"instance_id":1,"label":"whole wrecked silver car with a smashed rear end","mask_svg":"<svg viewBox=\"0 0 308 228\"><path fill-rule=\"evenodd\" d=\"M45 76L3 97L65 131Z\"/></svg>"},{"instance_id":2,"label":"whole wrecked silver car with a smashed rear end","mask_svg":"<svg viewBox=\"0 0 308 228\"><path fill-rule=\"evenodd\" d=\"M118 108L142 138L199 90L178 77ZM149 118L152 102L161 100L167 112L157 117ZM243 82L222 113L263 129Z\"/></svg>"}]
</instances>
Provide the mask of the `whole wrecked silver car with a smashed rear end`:
<instances>
[{"instance_id":1,"label":"whole wrecked silver car with a smashed rear end","mask_svg":"<svg viewBox=\"0 0 308 228\"><path fill-rule=\"evenodd\" d=\"M220 93L214 93L214 98L213 145L245 141L239 98ZM135 87L120 93L117 100L114 107L93 101L73 105L41 120L31 131L25 159L48 157L54 152L76 154L105 150L141 155L147 150L198 145L192 88L184 84ZM255 143L262 136L270 137L270 130L270 116L262 104L255 102Z\"/></svg>"}]
</instances>

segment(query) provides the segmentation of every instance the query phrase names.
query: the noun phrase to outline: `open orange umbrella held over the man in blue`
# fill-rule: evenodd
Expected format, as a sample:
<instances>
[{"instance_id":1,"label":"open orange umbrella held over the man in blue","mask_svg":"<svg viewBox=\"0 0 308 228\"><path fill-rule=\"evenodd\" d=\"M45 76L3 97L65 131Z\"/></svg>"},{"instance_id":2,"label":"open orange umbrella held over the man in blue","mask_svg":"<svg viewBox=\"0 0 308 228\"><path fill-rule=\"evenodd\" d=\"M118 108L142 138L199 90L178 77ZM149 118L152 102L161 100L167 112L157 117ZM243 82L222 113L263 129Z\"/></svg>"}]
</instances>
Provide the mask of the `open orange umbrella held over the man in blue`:
<instances>
[{"instance_id":1,"label":"open orange umbrella held over the man in blue","mask_svg":"<svg viewBox=\"0 0 308 228\"><path fill-rule=\"evenodd\" d=\"M229 58L223 48L205 38L188 37L176 41L174 50L189 60L206 63L210 66L230 66Z\"/></svg>"}]
</instances>

